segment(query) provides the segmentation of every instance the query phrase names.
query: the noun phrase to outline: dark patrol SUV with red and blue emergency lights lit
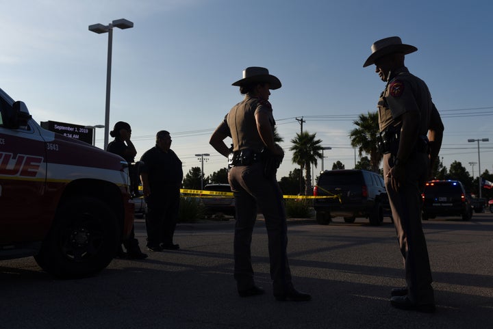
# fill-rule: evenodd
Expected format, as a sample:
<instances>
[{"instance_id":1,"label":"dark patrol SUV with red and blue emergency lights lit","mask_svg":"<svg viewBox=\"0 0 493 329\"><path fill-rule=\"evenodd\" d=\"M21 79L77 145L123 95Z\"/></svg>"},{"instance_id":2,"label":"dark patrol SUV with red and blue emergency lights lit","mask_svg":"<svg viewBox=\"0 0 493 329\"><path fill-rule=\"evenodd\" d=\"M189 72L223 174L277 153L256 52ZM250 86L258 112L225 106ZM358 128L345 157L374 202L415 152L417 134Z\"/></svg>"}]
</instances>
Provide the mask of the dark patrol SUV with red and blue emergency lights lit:
<instances>
[{"instance_id":1,"label":"dark patrol SUV with red and blue emergency lights lit","mask_svg":"<svg viewBox=\"0 0 493 329\"><path fill-rule=\"evenodd\" d=\"M472 206L464 186L459 181L429 181L421 194L422 220L436 216L461 216L472 218Z\"/></svg>"}]
</instances>

